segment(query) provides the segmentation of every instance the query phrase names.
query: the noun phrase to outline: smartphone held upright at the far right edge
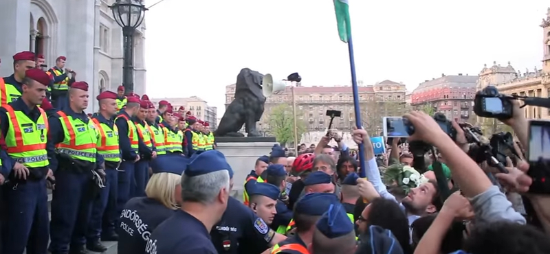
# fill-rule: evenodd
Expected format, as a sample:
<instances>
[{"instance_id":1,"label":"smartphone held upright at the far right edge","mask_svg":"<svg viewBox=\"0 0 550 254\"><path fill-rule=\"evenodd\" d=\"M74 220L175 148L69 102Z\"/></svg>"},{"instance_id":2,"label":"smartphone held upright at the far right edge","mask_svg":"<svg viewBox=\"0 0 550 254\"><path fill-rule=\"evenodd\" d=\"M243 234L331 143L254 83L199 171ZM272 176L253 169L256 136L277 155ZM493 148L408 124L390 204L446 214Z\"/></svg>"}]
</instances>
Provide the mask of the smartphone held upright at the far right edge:
<instances>
[{"instance_id":1,"label":"smartphone held upright at the far right edge","mask_svg":"<svg viewBox=\"0 0 550 254\"><path fill-rule=\"evenodd\" d=\"M533 178L533 183L531 187L529 187L529 192L550 194L549 121L531 120L529 122L529 149L527 149L527 161L529 161L529 171L527 171L527 174Z\"/></svg>"}]
</instances>

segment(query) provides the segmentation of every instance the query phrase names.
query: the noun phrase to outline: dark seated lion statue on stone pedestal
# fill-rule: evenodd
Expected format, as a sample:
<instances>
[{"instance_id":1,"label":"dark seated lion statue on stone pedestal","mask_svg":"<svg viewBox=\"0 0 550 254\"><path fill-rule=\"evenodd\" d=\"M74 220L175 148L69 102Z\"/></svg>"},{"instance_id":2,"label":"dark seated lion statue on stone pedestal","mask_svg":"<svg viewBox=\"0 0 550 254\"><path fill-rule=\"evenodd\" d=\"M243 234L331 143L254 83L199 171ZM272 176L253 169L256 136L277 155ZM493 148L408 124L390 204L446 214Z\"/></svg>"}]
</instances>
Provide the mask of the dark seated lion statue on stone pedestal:
<instances>
[{"instance_id":1,"label":"dark seated lion statue on stone pedestal","mask_svg":"<svg viewBox=\"0 0 550 254\"><path fill-rule=\"evenodd\" d=\"M214 135L244 137L239 133L243 124L248 137L259 137L256 122L263 114L265 96L262 93L263 74L244 68L236 76L235 99L225 109Z\"/></svg>"}]
</instances>

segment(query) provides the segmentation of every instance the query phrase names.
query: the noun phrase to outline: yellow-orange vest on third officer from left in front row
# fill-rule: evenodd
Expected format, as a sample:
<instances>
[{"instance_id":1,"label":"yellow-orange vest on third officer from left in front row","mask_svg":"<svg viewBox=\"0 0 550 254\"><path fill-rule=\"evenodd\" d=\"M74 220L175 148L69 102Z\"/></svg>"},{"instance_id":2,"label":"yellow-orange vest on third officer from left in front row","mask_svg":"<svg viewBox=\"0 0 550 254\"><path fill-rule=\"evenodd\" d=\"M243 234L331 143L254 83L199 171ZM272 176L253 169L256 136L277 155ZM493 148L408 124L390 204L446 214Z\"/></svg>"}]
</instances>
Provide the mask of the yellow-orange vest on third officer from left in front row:
<instances>
[{"instance_id":1,"label":"yellow-orange vest on third officer from left in front row","mask_svg":"<svg viewBox=\"0 0 550 254\"><path fill-rule=\"evenodd\" d=\"M99 122L97 118L92 118L91 120L96 124L96 130L98 130L98 153L101 154L105 161L119 162L118 127L113 124L113 128L111 129L107 124Z\"/></svg>"}]
</instances>

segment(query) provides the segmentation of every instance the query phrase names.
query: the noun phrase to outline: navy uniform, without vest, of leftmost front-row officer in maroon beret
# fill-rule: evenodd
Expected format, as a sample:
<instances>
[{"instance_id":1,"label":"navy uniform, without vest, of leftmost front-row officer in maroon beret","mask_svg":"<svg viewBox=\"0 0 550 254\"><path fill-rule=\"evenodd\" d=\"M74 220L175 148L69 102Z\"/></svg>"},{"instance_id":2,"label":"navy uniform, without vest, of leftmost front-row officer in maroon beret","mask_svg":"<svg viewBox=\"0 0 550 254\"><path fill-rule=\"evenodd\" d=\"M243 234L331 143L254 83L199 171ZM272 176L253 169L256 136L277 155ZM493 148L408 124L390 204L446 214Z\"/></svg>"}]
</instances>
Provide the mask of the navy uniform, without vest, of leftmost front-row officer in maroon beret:
<instances>
[{"instance_id":1,"label":"navy uniform, without vest, of leftmost front-row officer in maroon beret","mask_svg":"<svg viewBox=\"0 0 550 254\"><path fill-rule=\"evenodd\" d=\"M10 83L14 84L14 83ZM29 108L21 98L10 105L14 111L21 111L32 122L37 122L43 117L39 108ZM0 127L2 137L7 137L10 122L5 108L0 108ZM45 126L36 126L36 130L47 135ZM27 130L25 130L27 132ZM30 174L27 180L15 178L12 166L15 159L8 157L2 150L2 174L5 177L3 188L3 200L5 201L5 224L3 224L3 244L1 253L23 253L27 247L27 253L46 253L49 235L49 218L47 212L47 190L45 176L47 167L29 168Z\"/></svg>"}]
</instances>

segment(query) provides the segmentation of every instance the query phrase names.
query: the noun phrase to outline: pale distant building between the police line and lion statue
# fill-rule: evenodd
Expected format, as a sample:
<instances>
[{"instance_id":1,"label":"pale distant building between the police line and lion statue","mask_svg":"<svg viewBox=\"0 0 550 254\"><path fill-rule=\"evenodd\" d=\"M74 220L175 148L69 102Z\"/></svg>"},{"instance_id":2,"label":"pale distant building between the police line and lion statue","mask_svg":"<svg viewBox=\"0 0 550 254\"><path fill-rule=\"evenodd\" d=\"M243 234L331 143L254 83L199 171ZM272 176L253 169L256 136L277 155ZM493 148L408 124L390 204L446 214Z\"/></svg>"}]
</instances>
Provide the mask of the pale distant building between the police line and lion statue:
<instances>
[{"instance_id":1,"label":"pale distant building between the police line and lion statue","mask_svg":"<svg viewBox=\"0 0 550 254\"><path fill-rule=\"evenodd\" d=\"M210 124L210 130L216 130L219 122L217 119L218 109L215 106L208 106L206 100L202 100L197 96L191 96L179 98L153 98L151 102L157 106L158 102L161 100L170 102L175 111L177 111L180 106L184 106L185 111L191 111L197 119L208 122L208 124Z\"/></svg>"}]
</instances>

